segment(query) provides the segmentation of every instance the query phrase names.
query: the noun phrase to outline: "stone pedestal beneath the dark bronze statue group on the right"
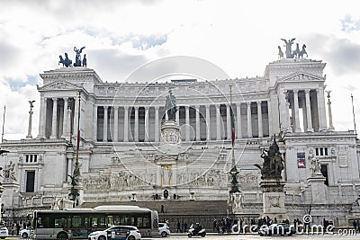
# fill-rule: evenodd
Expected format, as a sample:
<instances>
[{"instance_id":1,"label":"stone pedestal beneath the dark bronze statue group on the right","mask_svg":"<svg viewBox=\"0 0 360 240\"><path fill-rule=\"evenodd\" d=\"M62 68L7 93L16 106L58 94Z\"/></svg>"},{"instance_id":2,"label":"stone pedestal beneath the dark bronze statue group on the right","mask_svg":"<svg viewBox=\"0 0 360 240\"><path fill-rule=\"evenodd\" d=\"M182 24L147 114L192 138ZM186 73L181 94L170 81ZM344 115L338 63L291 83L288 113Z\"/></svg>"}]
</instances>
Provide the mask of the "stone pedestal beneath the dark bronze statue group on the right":
<instances>
[{"instance_id":1,"label":"stone pedestal beneath the dark bronze statue group on the right","mask_svg":"<svg viewBox=\"0 0 360 240\"><path fill-rule=\"evenodd\" d=\"M263 189L264 216L276 218L277 221L289 219L285 209L285 194L283 180L266 179L260 182Z\"/></svg>"}]
</instances>

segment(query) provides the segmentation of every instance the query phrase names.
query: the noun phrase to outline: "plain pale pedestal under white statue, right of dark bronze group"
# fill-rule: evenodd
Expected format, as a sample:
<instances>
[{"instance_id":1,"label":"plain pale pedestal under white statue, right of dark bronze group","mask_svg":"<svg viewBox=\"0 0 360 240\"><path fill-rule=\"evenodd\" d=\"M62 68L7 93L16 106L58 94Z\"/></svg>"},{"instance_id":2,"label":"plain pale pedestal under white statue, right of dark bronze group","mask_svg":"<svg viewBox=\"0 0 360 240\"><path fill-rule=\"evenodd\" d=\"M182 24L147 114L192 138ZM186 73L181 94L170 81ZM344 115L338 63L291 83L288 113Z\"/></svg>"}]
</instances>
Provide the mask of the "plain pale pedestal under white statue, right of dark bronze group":
<instances>
[{"instance_id":1,"label":"plain pale pedestal under white statue, right of dark bronze group","mask_svg":"<svg viewBox=\"0 0 360 240\"><path fill-rule=\"evenodd\" d=\"M325 185L326 178L321 174L312 174L308 178L309 187L311 188L311 203L312 204L326 204L328 188Z\"/></svg>"}]
</instances>

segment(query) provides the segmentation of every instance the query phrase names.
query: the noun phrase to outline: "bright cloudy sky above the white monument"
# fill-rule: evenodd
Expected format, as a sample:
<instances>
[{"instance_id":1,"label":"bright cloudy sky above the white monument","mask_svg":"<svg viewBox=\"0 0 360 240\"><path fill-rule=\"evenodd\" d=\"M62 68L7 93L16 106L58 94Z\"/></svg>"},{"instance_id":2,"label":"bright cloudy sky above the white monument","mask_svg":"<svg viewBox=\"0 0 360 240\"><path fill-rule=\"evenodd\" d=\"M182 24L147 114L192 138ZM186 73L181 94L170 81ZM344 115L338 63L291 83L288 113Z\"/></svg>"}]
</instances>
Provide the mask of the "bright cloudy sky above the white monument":
<instances>
[{"instance_id":1,"label":"bright cloudy sky above the white monument","mask_svg":"<svg viewBox=\"0 0 360 240\"><path fill-rule=\"evenodd\" d=\"M334 3L333 3L334 2ZM263 76L281 38L305 43L309 58L327 63L334 126L360 128L360 3L358 1L67 1L0 0L0 123L4 139L25 138L29 100L39 74L58 55L85 46L88 67L103 81L121 82L159 58L202 58L229 76Z\"/></svg>"}]
</instances>

